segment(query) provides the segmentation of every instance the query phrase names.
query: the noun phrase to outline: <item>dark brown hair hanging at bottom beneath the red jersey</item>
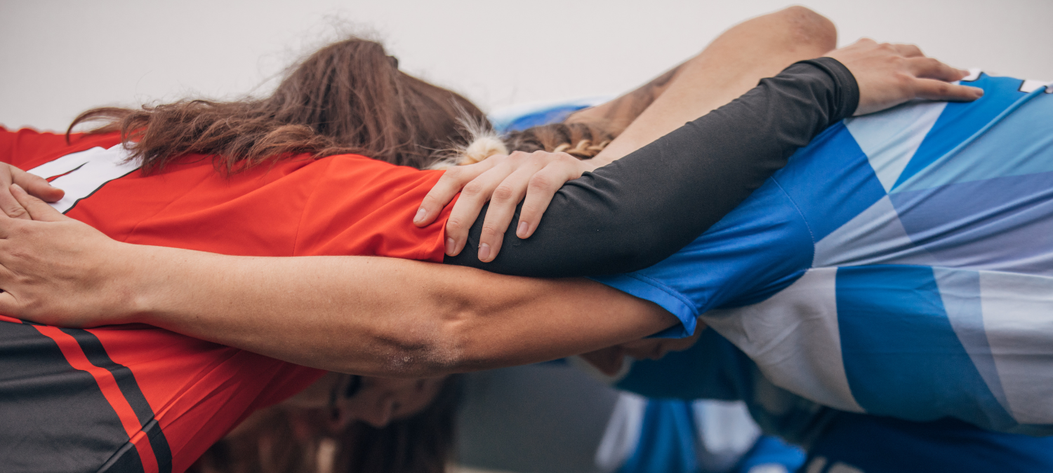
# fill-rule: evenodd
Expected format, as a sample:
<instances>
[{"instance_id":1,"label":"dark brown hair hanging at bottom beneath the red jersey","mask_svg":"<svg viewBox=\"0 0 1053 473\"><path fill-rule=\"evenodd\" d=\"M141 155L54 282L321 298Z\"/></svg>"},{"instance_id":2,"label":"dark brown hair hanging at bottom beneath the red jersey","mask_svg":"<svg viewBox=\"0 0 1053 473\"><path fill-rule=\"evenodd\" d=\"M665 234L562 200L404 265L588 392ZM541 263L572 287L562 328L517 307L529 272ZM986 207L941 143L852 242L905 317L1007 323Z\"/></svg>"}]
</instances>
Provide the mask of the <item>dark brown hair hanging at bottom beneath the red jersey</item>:
<instances>
[{"instance_id":1,"label":"dark brown hair hanging at bottom beneath the red jersey","mask_svg":"<svg viewBox=\"0 0 1053 473\"><path fill-rule=\"evenodd\" d=\"M453 453L459 398L459 376L450 376L416 415L382 428L355 423L336 435L321 427L327 409L277 406L251 431L213 445L188 471L318 473L324 456L333 473L442 473Z\"/></svg>"}]
</instances>

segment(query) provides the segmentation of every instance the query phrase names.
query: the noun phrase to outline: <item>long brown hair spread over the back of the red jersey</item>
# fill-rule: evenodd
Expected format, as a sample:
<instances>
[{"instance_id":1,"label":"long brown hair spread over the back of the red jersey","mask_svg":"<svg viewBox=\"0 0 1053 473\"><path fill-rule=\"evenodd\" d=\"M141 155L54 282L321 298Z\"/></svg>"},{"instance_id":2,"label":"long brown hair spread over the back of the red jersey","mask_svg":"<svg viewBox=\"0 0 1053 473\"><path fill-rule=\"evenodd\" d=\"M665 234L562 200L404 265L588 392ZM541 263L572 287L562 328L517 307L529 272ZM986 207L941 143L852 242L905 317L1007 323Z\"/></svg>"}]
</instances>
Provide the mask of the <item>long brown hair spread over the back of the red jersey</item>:
<instances>
[{"instance_id":1,"label":"long brown hair spread over the back of the red jersey","mask_svg":"<svg viewBox=\"0 0 1053 473\"><path fill-rule=\"evenodd\" d=\"M468 99L400 71L380 43L351 38L290 67L270 97L93 108L66 138L80 123L106 122L90 132L119 130L146 173L187 153L212 155L226 172L296 153L359 153L424 168L435 151L466 141L464 119L489 123Z\"/></svg>"}]
</instances>

